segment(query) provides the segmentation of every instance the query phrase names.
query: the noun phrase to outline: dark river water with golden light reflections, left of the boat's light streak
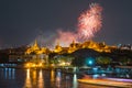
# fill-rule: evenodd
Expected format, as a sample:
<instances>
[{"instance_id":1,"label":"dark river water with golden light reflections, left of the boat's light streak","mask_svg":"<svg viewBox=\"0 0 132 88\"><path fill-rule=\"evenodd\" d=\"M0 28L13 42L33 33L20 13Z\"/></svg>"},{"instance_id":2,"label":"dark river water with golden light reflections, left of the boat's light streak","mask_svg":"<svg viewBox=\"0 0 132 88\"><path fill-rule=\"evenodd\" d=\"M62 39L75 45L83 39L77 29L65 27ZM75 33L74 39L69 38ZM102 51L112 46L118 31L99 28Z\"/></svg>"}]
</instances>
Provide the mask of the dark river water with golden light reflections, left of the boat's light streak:
<instances>
[{"instance_id":1,"label":"dark river water with golden light reflections, left of the boat's light streak","mask_svg":"<svg viewBox=\"0 0 132 88\"><path fill-rule=\"evenodd\" d=\"M80 84L61 70L0 68L0 88L110 88ZM112 87L113 88L113 87Z\"/></svg>"}]
</instances>

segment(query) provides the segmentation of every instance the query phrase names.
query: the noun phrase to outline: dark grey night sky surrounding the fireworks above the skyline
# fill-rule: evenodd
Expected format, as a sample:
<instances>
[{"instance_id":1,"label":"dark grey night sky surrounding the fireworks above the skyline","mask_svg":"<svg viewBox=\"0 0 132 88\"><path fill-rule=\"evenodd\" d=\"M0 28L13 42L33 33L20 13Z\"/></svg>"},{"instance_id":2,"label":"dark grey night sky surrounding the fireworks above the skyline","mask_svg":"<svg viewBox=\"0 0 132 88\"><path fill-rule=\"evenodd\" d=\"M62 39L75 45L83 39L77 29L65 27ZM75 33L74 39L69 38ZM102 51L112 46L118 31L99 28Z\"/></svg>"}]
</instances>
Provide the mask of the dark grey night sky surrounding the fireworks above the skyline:
<instances>
[{"instance_id":1,"label":"dark grey night sky surrounding the fireworks above the skyline","mask_svg":"<svg viewBox=\"0 0 132 88\"><path fill-rule=\"evenodd\" d=\"M102 29L94 41L132 44L132 0L0 0L0 47L26 45L40 36L48 45L58 29L75 31L91 2L103 8Z\"/></svg>"}]
</instances>

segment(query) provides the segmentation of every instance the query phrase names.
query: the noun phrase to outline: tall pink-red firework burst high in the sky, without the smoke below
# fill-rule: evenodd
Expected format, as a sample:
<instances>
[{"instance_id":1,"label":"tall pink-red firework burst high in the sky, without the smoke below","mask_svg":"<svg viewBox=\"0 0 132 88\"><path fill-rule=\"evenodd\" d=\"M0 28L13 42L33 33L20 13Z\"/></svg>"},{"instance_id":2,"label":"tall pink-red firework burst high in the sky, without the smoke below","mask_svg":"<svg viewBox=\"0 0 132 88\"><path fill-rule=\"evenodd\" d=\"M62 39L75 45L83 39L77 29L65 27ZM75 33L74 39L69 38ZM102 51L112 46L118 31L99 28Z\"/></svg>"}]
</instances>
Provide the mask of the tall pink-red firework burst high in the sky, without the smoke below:
<instances>
[{"instance_id":1,"label":"tall pink-red firework burst high in the sky, without the smoke below","mask_svg":"<svg viewBox=\"0 0 132 88\"><path fill-rule=\"evenodd\" d=\"M78 18L78 35L80 40L90 40L101 26L102 8L98 3L91 3L90 9Z\"/></svg>"}]
</instances>

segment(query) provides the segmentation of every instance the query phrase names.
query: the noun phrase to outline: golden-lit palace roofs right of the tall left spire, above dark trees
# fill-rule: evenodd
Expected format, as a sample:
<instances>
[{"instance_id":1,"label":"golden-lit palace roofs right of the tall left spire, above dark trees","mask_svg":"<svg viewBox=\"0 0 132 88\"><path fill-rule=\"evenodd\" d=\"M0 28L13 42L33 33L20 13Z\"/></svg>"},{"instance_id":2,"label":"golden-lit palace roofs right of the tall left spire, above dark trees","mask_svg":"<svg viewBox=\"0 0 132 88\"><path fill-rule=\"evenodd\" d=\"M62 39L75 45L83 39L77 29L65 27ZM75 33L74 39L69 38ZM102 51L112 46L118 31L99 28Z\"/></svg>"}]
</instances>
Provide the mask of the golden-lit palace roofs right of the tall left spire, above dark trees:
<instances>
[{"instance_id":1,"label":"golden-lit palace roofs right of the tall left spire, above dark trees","mask_svg":"<svg viewBox=\"0 0 132 88\"><path fill-rule=\"evenodd\" d=\"M63 47L59 45L59 43L57 43L57 45L55 46L55 50L53 52L55 53L73 53L77 50L80 48L92 48L97 52L111 52L112 48L117 48L117 46L108 46L105 44L105 42L102 43L97 43L94 41L86 41L84 43L75 43L75 41L73 41L73 43L69 45L69 47Z\"/></svg>"}]
</instances>

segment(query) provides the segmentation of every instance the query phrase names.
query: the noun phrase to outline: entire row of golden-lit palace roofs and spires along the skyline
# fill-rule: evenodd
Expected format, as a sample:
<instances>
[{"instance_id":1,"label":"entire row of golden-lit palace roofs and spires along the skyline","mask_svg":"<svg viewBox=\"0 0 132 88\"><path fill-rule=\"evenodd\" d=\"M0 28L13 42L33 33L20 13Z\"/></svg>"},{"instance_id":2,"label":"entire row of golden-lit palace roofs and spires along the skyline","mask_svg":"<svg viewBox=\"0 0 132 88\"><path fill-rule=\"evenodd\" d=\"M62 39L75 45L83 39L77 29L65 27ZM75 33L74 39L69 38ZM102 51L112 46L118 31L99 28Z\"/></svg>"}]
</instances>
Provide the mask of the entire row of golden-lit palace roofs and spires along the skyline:
<instances>
[{"instance_id":1,"label":"entire row of golden-lit palace roofs and spires along the skyline","mask_svg":"<svg viewBox=\"0 0 132 88\"><path fill-rule=\"evenodd\" d=\"M77 50L80 48L92 48L97 52L111 52L112 48L117 48L116 46L108 46L105 44L105 42L102 43L96 43L94 41L87 41L84 43L75 43L75 41L73 41L72 44L69 44L68 47L63 47L59 45L59 43L57 43L57 45L55 46L55 48L53 51L50 51L46 47L38 47L37 41L35 41L34 45L32 45L31 47L29 47L25 52L25 54L48 54L48 53L58 53L58 54L63 54L63 53L73 53Z\"/></svg>"}]
</instances>

